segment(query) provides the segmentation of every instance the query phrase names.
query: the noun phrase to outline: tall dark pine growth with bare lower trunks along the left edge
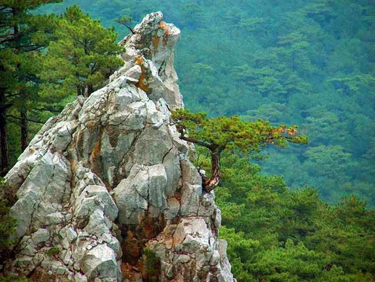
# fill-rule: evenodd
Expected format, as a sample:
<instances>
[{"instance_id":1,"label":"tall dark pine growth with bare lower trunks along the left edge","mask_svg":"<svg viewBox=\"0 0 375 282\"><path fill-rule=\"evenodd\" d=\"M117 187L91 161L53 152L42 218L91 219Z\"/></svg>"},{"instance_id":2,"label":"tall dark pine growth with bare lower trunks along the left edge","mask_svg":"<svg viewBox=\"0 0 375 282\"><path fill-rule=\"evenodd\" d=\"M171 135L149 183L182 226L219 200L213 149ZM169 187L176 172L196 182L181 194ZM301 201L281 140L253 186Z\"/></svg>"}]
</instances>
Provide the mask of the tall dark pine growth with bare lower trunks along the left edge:
<instances>
[{"instance_id":1,"label":"tall dark pine growth with bare lower trunks along the left edge","mask_svg":"<svg viewBox=\"0 0 375 282\"><path fill-rule=\"evenodd\" d=\"M0 3L0 175L8 167L7 121L21 126L21 149L27 146L28 109L36 101L39 51L49 40L54 16L30 10L61 0L3 0ZM7 114L12 109L12 115Z\"/></svg>"}]
</instances>

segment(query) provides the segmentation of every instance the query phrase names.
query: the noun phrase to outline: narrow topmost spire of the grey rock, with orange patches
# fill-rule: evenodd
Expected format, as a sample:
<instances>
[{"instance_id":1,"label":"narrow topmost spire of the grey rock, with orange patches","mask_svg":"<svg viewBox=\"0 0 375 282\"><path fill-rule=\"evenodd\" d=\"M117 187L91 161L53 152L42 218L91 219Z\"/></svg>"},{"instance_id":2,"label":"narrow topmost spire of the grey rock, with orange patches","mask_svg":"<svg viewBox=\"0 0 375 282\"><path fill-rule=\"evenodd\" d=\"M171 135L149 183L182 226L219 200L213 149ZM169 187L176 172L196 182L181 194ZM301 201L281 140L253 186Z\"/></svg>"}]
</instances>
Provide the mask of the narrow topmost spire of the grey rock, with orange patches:
<instances>
[{"instance_id":1,"label":"narrow topmost spire of the grey rock, with orange patches","mask_svg":"<svg viewBox=\"0 0 375 282\"><path fill-rule=\"evenodd\" d=\"M151 100L163 97L169 109L183 107L173 67L174 46L180 40L180 30L164 22L162 12L156 12L146 15L133 31L135 34L129 34L120 42L125 48L122 58L126 64L111 80L127 72L138 80L136 85Z\"/></svg>"}]
</instances>

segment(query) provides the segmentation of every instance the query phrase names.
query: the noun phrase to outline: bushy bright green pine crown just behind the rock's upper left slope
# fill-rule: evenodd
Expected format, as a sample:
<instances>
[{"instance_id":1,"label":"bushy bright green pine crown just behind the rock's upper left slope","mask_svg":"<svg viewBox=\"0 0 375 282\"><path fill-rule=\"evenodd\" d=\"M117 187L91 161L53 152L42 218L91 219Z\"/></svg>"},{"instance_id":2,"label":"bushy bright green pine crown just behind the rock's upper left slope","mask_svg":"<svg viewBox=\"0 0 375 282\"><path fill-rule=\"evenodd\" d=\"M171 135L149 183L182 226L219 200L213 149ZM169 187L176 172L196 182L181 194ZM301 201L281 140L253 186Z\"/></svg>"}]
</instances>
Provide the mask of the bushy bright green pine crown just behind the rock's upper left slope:
<instances>
[{"instance_id":1,"label":"bushy bright green pine crown just behind the rock's upper left slope","mask_svg":"<svg viewBox=\"0 0 375 282\"><path fill-rule=\"evenodd\" d=\"M102 27L77 5L66 9L54 35L57 40L51 42L43 61L42 95L89 96L123 63L117 57L121 48L114 28Z\"/></svg>"}]
</instances>

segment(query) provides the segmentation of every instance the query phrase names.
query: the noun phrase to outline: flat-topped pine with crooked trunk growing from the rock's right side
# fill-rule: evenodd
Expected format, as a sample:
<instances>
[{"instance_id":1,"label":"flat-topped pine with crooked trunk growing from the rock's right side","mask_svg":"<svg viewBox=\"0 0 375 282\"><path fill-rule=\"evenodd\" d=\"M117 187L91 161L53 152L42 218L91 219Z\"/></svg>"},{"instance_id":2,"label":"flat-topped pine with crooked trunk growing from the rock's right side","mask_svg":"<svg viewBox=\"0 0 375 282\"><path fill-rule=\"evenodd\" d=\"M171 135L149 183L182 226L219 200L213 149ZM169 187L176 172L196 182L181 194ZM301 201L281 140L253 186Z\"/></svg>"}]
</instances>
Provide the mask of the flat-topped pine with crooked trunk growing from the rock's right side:
<instances>
[{"instance_id":1,"label":"flat-topped pine with crooked trunk growing from the rock's right side","mask_svg":"<svg viewBox=\"0 0 375 282\"><path fill-rule=\"evenodd\" d=\"M211 152L211 178L203 176L205 191L214 189L220 181L220 154L237 151L245 155L260 152L274 144L286 146L288 142L305 144L307 137L297 133L297 126L272 126L268 121L241 121L239 116L207 118L204 112L191 113L178 109L172 112L172 121L181 139L204 146Z\"/></svg>"}]
</instances>

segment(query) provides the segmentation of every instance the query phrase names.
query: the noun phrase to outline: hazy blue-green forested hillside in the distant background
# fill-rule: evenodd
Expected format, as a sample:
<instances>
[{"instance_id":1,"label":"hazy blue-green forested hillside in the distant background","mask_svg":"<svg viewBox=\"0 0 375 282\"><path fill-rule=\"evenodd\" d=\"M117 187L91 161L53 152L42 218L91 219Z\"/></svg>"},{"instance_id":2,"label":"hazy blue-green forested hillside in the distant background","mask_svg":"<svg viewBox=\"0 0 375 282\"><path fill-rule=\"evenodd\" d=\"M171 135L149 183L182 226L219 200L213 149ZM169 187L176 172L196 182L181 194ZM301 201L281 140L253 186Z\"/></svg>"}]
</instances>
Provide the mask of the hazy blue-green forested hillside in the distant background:
<instances>
[{"instance_id":1,"label":"hazy blue-green forested hillside in the distant background","mask_svg":"<svg viewBox=\"0 0 375 282\"><path fill-rule=\"evenodd\" d=\"M300 125L309 145L269 149L264 172L316 187L330 203L354 193L374 206L374 2L67 0L43 11L72 3L105 26L162 10L181 29L187 108Z\"/></svg>"}]
</instances>

